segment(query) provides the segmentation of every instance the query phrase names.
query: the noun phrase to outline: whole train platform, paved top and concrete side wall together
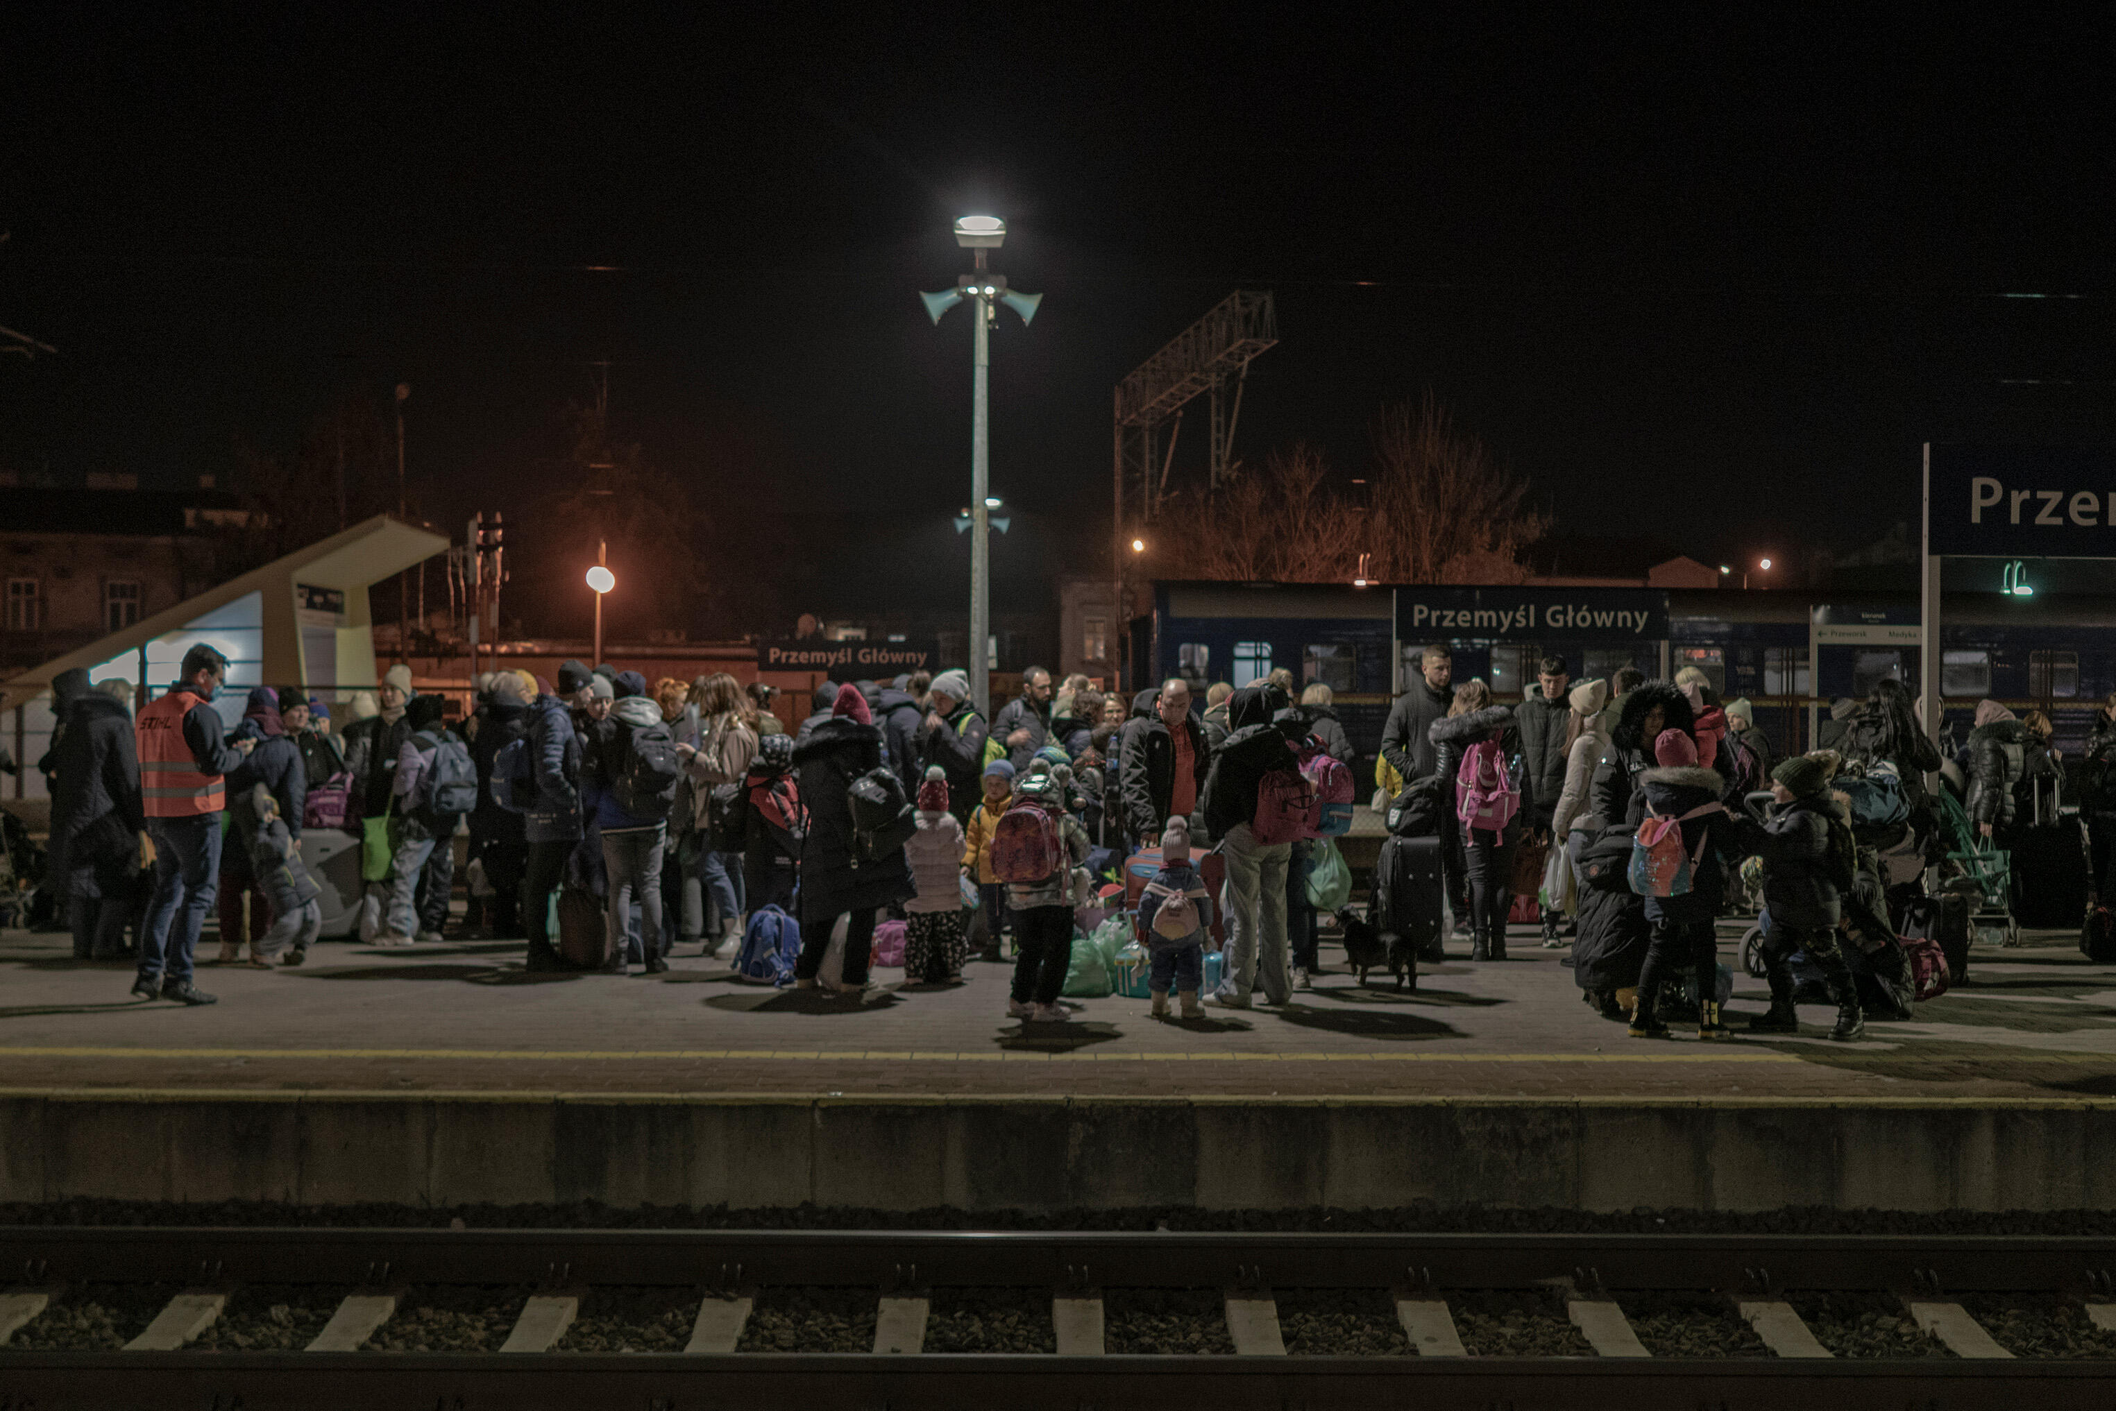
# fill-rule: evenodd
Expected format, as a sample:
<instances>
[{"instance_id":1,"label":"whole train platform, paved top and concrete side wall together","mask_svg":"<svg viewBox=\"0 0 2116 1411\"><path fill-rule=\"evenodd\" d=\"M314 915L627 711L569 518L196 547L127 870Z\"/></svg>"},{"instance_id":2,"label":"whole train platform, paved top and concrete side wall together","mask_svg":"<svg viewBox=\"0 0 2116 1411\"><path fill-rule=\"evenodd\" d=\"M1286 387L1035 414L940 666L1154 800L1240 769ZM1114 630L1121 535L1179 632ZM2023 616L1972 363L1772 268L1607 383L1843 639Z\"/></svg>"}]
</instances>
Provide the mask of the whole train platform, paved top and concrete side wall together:
<instances>
[{"instance_id":1,"label":"whole train platform, paved top and concrete side wall together","mask_svg":"<svg viewBox=\"0 0 2116 1411\"><path fill-rule=\"evenodd\" d=\"M1416 990L1325 943L1284 1007L1054 1026L1005 1018L1007 965L851 1001L696 954L531 975L518 941L207 965L220 1003L186 1009L11 931L0 1199L2112 1204L2116 967L2029 941L1837 1045L1820 1007L1799 1037L1631 1041L1528 929ZM1763 1003L1737 975L1735 1024Z\"/></svg>"}]
</instances>

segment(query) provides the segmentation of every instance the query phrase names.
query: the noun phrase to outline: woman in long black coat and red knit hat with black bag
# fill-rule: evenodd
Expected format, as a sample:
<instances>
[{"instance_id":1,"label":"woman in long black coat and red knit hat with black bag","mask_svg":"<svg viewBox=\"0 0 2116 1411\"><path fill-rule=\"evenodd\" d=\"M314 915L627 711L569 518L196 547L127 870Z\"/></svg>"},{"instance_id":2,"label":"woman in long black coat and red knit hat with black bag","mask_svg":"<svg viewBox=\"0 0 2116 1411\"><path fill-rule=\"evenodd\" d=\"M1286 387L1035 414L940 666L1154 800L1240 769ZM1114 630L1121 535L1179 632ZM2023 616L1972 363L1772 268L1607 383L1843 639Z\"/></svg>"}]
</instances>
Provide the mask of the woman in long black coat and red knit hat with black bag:
<instances>
[{"instance_id":1,"label":"woman in long black coat and red knit hat with black bag","mask_svg":"<svg viewBox=\"0 0 2116 1411\"><path fill-rule=\"evenodd\" d=\"M855 685L840 685L829 719L817 723L794 751L800 798L808 808L808 838L800 857L800 960L794 984L817 988L832 927L851 914L844 929L844 988L868 984L868 954L874 946L876 908L912 895L912 874L904 848L876 861L857 861L853 806L846 789L882 764L882 732Z\"/></svg>"}]
</instances>

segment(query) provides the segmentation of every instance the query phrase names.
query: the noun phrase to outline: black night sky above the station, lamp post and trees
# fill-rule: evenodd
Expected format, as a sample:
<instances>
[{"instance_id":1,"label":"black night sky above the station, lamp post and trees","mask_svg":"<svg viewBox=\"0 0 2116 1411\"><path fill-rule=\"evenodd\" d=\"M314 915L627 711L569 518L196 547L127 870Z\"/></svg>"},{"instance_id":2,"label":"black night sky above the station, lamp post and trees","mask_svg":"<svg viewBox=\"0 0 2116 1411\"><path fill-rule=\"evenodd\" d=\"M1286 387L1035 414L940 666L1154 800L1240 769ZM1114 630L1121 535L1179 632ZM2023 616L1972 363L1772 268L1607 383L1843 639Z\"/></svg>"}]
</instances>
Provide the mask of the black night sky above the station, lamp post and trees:
<instances>
[{"instance_id":1,"label":"black night sky above the station, lamp post and trees","mask_svg":"<svg viewBox=\"0 0 2116 1411\"><path fill-rule=\"evenodd\" d=\"M2084 11L1149 8L25 6L0 324L61 351L0 360L0 455L190 484L408 381L459 523L609 360L707 514L946 516L969 326L916 292L967 212L1047 294L995 338L995 487L1094 548L1111 385L1236 286L1282 334L1251 463L1358 474L1430 387L1559 529L1705 558L1879 537L1926 438L2116 440Z\"/></svg>"}]
</instances>

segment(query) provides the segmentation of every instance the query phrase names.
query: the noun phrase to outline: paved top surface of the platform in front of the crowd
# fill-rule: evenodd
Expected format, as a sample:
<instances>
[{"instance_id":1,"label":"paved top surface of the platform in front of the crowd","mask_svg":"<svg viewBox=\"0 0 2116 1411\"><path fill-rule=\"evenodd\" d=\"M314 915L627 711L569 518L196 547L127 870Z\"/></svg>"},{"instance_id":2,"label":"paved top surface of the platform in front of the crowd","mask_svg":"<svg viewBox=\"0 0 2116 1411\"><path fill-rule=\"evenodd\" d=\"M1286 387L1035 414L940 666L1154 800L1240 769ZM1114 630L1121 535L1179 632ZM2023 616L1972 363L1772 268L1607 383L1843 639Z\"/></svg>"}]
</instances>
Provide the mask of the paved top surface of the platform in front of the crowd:
<instances>
[{"instance_id":1,"label":"paved top surface of the platform in front of the crowd","mask_svg":"<svg viewBox=\"0 0 2116 1411\"><path fill-rule=\"evenodd\" d=\"M1733 965L1737 929L1722 931ZM688 948L694 950L694 948ZM201 946L214 954L214 943ZM176 1092L516 1092L609 1096L1346 1096L1705 1100L2116 1098L2116 967L2072 937L1978 950L1970 984L1824 1039L1627 1039L1581 1003L1568 952L1517 929L1513 958L1428 967L1418 990L1327 973L1293 1003L1155 1022L1143 998L1069 1001L1073 1022L1005 1018L1011 965L961 988L876 971L863 998L738 982L679 954L658 977L529 975L521 941L317 946L300 969L199 967L220 1003L127 994L129 965L76 963L66 935L0 933L0 1087ZM1765 1005L1735 975L1733 1024Z\"/></svg>"}]
</instances>

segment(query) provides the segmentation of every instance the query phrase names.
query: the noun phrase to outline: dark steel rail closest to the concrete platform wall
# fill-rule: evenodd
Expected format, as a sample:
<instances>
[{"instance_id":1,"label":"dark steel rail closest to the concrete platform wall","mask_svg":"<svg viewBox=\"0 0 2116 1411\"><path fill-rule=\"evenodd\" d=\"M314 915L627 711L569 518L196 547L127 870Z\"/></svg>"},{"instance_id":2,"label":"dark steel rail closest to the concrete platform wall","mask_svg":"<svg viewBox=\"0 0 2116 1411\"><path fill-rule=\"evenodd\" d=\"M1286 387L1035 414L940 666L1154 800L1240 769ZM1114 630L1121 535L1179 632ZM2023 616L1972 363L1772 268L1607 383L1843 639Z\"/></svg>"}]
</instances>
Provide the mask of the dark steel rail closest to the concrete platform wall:
<instances>
[{"instance_id":1,"label":"dark steel rail closest to the concrete platform wall","mask_svg":"<svg viewBox=\"0 0 2116 1411\"><path fill-rule=\"evenodd\" d=\"M2116 1295L2116 1238L6 1227L0 1280Z\"/></svg>"}]
</instances>

